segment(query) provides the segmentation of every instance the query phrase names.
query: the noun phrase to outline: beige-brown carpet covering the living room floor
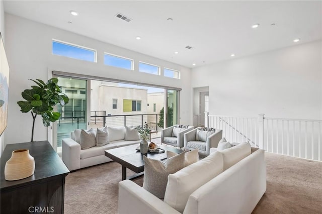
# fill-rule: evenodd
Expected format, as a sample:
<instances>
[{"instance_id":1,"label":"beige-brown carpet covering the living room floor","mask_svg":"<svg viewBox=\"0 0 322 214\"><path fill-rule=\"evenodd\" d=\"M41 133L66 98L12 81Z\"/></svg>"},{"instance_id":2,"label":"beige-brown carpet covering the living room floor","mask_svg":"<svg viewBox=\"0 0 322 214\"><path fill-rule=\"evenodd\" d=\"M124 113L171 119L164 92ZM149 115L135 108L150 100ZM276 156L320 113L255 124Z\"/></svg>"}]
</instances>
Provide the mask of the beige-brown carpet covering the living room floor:
<instances>
[{"instance_id":1,"label":"beige-brown carpet covering the living room floor","mask_svg":"<svg viewBox=\"0 0 322 214\"><path fill-rule=\"evenodd\" d=\"M265 156L267 190L253 213L322 213L322 163L272 153ZM121 165L116 162L70 173L65 213L117 213L119 181ZM134 182L142 186L143 178Z\"/></svg>"}]
</instances>

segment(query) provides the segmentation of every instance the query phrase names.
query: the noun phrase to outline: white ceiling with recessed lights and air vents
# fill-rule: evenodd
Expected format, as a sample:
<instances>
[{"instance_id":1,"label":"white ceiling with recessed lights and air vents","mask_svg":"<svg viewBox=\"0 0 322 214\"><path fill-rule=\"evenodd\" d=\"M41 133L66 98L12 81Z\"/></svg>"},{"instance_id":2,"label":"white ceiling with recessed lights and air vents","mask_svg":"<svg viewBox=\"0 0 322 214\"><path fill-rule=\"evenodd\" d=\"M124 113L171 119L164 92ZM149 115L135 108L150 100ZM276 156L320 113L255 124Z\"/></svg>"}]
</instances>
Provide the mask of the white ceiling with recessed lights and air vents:
<instances>
[{"instance_id":1,"label":"white ceiling with recessed lights and air vents","mask_svg":"<svg viewBox=\"0 0 322 214\"><path fill-rule=\"evenodd\" d=\"M322 38L322 1L4 1L4 8L187 67ZM116 18L117 13L132 21ZM260 27L251 28L256 23ZM294 43L296 38L300 42Z\"/></svg>"}]
</instances>

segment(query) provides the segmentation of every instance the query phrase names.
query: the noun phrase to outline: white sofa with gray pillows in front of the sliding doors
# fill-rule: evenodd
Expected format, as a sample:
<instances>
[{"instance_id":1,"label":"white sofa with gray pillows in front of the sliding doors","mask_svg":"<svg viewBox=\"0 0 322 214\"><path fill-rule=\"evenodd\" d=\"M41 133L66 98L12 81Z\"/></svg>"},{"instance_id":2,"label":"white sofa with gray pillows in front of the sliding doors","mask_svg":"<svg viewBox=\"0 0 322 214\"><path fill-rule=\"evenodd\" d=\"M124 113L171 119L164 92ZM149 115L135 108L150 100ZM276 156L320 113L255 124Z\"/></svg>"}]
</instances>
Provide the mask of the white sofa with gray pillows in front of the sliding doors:
<instances>
[{"instance_id":1,"label":"white sofa with gray pillows in front of the sliding doors","mask_svg":"<svg viewBox=\"0 0 322 214\"><path fill-rule=\"evenodd\" d=\"M126 140L125 127L108 127L110 139L108 144L81 149L79 144L80 133L80 130L75 130L71 132L70 138L62 139L61 158L70 171L112 161L112 159L105 156L105 150L138 144L141 141Z\"/></svg>"}]
</instances>

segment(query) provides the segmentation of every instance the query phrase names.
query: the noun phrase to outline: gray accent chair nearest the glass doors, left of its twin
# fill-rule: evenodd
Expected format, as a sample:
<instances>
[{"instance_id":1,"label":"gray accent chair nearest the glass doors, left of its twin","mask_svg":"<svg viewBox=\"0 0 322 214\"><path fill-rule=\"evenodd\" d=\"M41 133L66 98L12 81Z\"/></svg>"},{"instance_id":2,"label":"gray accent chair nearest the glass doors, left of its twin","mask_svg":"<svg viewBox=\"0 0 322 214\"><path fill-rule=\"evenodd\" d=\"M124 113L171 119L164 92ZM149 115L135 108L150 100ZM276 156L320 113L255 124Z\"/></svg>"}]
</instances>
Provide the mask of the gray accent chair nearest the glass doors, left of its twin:
<instances>
[{"instance_id":1,"label":"gray accent chair nearest the glass doors, left of its twin","mask_svg":"<svg viewBox=\"0 0 322 214\"><path fill-rule=\"evenodd\" d=\"M193 130L194 126L174 125L161 131L161 143L183 148L183 135Z\"/></svg>"}]
</instances>

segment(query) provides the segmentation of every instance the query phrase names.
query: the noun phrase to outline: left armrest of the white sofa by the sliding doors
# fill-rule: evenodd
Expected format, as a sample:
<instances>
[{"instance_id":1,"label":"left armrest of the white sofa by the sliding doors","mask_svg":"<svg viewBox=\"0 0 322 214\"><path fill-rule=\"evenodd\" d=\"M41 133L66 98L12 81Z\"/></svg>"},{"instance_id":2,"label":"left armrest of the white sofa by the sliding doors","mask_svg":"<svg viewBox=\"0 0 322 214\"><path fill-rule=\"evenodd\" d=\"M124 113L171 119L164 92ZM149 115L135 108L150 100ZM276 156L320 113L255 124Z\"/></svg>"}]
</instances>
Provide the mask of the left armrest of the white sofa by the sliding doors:
<instances>
[{"instance_id":1,"label":"left armrest of the white sofa by the sliding doors","mask_svg":"<svg viewBox=\"0 0 322 214\"><path fill-rule=\"evenodd\" d=\"M71 138L62 139L61 159L72 171L81 168L81 145Z\"/></svg>"}]
</instances>

